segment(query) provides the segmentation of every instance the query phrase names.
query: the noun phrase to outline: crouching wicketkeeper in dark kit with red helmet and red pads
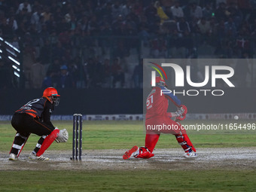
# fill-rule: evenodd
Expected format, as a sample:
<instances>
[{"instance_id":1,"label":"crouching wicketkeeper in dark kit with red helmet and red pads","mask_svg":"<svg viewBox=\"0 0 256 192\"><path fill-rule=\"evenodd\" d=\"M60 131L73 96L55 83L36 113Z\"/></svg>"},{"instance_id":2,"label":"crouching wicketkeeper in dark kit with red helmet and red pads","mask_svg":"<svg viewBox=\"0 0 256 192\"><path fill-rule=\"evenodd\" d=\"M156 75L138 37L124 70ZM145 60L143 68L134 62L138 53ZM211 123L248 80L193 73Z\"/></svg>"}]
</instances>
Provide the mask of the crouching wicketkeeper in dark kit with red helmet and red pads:
<instances>
[{"instance_id":1,"label":"crouching wicketkeeper in dark kit with red helmet and red pads","mask_svg":"<svg viewBox=\"0 0 256 192\"><path fill-rule=\"evenodd\" d=\"M66 129L59 130L50 122L50 115L54 106L59 104L59 94L53 87L44 90L43 96L23 105L15 111L11 125L17 130L14 143L11 146L9 160L17 160L31 133L41 138L35 149L29 154L31 160L49 160L42 156L44 151L56 142L67 142L69 133Z\"/></svg>"}]
</instances>

